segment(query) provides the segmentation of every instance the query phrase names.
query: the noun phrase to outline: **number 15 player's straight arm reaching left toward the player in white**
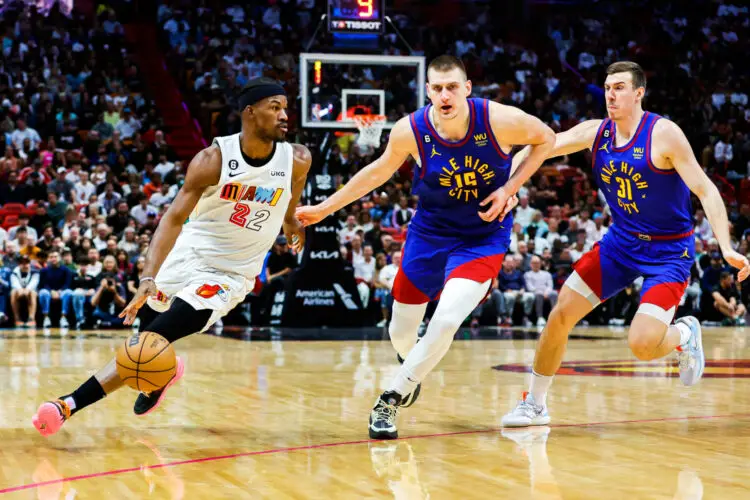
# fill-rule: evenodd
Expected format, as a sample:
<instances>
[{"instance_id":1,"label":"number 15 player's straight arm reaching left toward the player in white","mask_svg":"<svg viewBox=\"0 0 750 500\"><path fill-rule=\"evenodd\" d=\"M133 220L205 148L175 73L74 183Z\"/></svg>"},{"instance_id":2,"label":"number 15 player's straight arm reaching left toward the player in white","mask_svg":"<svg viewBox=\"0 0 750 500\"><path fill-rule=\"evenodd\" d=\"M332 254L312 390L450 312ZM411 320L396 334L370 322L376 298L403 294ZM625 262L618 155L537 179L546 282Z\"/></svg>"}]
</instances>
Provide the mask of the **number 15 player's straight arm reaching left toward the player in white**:
<instances>
[{"instance_id":1,"label":"number 15 player's straight arm reaching left toward the player in white","mask_svg":"<svg viewBox=\"0 0 750 500\"><path fill-rule=\"evenodd\" d=\"M401 118L391 130L388 146L380 158L357 172L357 175L352 177L344 187L323 203L298 208L297 219L305 226L316 224L378 186L382 186L415 149L416 141L409 126L409 118Z\"/></svg>"}]
</instances>

